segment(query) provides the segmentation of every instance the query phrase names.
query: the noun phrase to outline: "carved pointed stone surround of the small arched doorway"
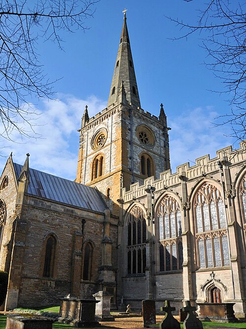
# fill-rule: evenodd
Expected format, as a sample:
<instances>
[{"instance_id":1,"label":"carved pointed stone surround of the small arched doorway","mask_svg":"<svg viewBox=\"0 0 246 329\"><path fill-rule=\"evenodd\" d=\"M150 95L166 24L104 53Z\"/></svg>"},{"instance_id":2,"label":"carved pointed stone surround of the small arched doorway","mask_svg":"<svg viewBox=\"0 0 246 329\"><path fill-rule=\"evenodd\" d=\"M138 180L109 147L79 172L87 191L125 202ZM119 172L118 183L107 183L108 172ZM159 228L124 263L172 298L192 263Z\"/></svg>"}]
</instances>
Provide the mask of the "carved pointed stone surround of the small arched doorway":
<instances>
[{"instance_id":1,"label":"carved pointed stone surround of the small arched doorway","mask_svg":"<svg viewBox=\"0 0 246 329\"><path fill-rule=\"evenodd\" d=\"M226 300L228 289L221 282L221 280L217 278L217 274L215 275L214 271L212 271L210 273L210 277L205 281L205 283L200 285L200 289L198 291L198 296L197 296L197 302L200 303L210 302L210 292L215 287L219 288L219 290L221 291L222 301Z\"/></svg>"}]
</instances>

